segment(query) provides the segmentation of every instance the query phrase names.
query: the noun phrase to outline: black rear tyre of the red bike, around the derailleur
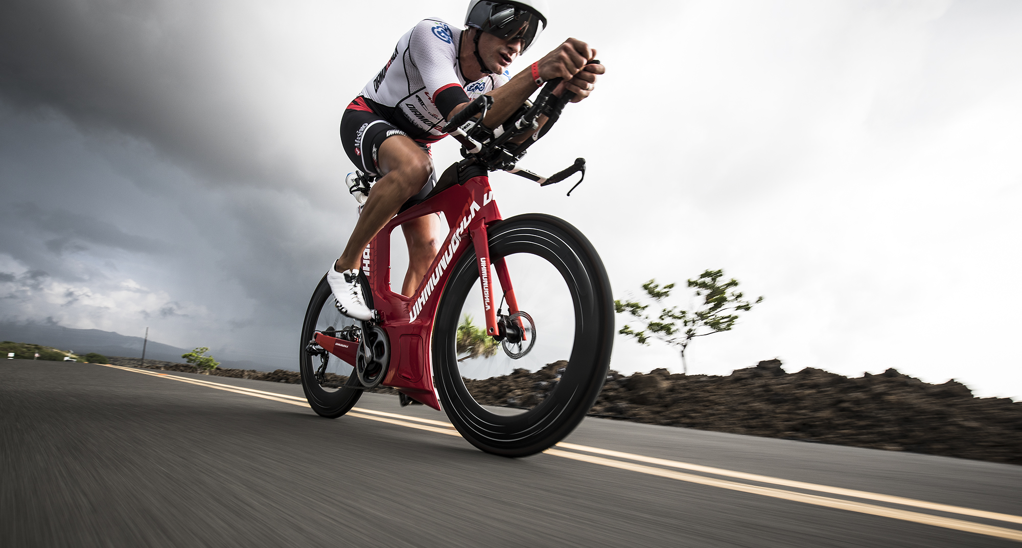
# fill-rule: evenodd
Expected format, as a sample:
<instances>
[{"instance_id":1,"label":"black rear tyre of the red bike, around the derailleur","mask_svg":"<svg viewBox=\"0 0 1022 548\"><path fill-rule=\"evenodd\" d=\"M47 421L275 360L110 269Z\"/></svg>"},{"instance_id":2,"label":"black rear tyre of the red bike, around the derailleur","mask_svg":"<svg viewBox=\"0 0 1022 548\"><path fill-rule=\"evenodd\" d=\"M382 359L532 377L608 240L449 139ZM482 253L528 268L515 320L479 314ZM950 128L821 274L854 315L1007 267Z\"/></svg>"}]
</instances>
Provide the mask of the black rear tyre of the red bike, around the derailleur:
<instances>
[{"instance_id":1,"label":"black rear tyre of the red bike, around the derailleur","mask_svg":"<svg viewBox=\"0 0 1022 548\"><path fill-rule=\"evenodd\" d=\"M359 398L362 397L363 392L362 384L354 372L346 375L347 379L343 380L343 384L339 386L337 382L320 381L316 375L319 357L311 355L306 350L316 329L326 327L318 324L328 323L340 328L354 323L353 320L337 312L333 306L332 296L330 284L327 283L326 275L324 275L319 285L316 286L313 298L309 302L309 308L306 310L306 318L301 325L301 348L298 351L298 370L301 373L301 389L306 393L306 400L309 401L313 411L327 418L337 418L351 411ZM327 357L335 364L335 367L343 368L346 366L351 368L336 356L327 355Z\"/></svg>"}]
</instances>

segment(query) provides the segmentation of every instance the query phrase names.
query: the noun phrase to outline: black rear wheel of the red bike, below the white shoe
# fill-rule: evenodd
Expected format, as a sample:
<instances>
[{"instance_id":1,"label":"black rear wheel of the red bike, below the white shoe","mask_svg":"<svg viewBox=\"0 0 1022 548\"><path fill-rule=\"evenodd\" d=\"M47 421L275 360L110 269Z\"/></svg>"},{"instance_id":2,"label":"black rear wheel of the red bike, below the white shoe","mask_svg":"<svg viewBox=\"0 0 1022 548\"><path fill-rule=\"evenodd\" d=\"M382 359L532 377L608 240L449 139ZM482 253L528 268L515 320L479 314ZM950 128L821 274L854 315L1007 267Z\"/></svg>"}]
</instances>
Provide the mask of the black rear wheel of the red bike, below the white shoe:
<instances>
[{"instance_id":1,"label":"black rear wheel of the red bike, below the white shoe","mask_svg":"<svg viewBox=\"0 0 1022 548\"><path fill-rule=\"evenodd\" d=\"M301 387L313 411L327 418L337 418L359 401L362 384L351 365L316 345L316 331L349 339L355 339L359 333L356 322L334 306L333 292L326 276L316 286L306 311L298 369L301 372Z\"/></svg>"}]
</instances>

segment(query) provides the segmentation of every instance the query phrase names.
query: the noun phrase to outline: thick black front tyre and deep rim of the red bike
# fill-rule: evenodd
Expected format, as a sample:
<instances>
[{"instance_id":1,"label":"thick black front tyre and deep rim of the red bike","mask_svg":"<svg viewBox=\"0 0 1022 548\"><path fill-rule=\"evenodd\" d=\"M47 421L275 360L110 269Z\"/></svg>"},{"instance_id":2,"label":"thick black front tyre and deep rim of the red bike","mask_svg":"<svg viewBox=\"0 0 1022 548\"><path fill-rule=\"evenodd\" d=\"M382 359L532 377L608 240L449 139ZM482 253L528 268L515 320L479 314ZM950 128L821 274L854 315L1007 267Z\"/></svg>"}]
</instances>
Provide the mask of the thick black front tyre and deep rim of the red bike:
<instances>
[{"instance_id":1,"label":"thick black front tyre and deep rim of the red bike","mask_svg":"<svg viewBox=\"0 0 1022 548\"><path fill-rule=\"evenodd\" d=\"M455 266L437 309L432 341L434 382L448 417L469 443L487 453L524 457L563 440L599 396L613 347L613 300L599 255L567 222L527 214L497 223L487 231L491 262L531 254L560 272L574 309L570 357L556 386L533 409L509 415L495 413L496 408L476 401L466 387L456 350L459 315L469 291L477 290L479 277L475 253L470 249ZM510 276L513 281L515 272Z\"/></svg>"}]
</instances>

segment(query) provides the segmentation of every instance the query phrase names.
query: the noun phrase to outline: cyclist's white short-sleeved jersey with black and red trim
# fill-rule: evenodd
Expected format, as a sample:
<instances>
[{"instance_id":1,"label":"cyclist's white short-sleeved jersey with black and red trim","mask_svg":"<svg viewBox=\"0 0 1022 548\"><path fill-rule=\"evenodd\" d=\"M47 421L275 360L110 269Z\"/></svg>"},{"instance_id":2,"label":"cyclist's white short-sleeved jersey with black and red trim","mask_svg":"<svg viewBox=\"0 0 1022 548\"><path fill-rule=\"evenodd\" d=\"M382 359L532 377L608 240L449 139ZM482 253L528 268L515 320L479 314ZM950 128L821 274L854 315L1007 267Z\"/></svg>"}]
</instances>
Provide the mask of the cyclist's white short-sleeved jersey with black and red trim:
<instances>
[{"instance_id":1,"label":"cyclist's white short-sleeved jersey with black and red trim","mask_svg":"<svg viewBox=\"0 0 1022 548\"><path fill-rule=\"evenodd\" d=\"M444 138L451 109L510 79L505 72L468 83L458 58L461 36L462 30L443 19L419 21L347 107L375 112L420 143Z\"/></svg>"}]
</instances>

